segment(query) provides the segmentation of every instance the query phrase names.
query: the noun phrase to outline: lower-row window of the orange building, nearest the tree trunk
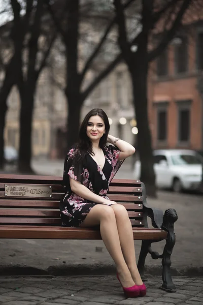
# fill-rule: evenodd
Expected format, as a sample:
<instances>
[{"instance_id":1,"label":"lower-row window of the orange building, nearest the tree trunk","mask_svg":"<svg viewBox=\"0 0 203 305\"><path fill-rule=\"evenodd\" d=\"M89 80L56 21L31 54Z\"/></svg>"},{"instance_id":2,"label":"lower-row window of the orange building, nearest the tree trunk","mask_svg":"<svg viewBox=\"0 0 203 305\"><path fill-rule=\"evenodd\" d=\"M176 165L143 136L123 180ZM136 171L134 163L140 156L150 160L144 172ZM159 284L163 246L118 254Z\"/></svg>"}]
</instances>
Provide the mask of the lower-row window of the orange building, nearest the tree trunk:
<instances>
[{"instance_id":1,"label":"lower-row window of the orange building, nearest the tree trunk","mask_svg":"<svg viewBox=\"0 0 203 305\"><path fill-rule=\"evenodd\" d=\"M157 141L167 141L167 105L168 102L157 105Z\"/></svg>"}]
</instances>

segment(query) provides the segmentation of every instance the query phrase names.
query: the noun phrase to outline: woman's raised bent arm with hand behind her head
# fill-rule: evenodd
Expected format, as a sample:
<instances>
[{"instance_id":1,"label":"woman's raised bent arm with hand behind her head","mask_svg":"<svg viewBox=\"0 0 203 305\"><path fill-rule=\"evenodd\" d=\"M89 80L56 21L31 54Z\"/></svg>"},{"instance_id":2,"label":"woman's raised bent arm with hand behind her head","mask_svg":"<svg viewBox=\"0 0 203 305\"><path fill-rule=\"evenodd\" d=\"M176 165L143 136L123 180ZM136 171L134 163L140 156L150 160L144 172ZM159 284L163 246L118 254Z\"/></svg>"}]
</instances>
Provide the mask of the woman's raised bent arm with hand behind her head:
<instances>
[{"instance_id":1,"label":"woman's raised bent arm with hand behind her head","mask_svg":"<svg viewBox=\"0 0 203 305\"><path fill-rule=\"evenodd\" d=\"M116 140L116 137L108 135L107 142L114 144L115 140ZM127 157L130 157L131 155L133 155L136 151L136 148L134 148L131 144L129 144L121 139L116 141L115 146L117 146L121 150L118 160L126 159Z\"/></svg>"}]
</instances>

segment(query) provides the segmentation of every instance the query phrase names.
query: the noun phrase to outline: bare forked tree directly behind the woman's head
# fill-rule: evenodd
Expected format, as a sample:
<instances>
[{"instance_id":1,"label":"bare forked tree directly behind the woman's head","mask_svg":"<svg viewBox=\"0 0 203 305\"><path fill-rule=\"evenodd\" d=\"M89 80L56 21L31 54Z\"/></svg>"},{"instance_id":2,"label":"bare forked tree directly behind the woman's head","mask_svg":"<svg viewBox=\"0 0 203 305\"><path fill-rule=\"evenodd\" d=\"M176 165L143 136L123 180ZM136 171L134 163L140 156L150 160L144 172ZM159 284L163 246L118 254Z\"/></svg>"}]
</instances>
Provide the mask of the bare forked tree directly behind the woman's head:
<instances>
[{"instance_id":1,"label":"bare forked tree directly behind the woman's head","mask_svg":"<svg viewBox=\"0 0 203 305\"><path fill-rule=\"evenodd\" d=\"M130 3L135 0L128 0L124 6L126 9ZM80 113L81 108L85 99L92 92L92 90L96 87L96 85L103 80L120 62L122 59L121 55L117 55L112 62L105 67L98 75L88 83L88 85L84 88L83 84L85 81L85 77L87 73L92 68L95 59L97 58L101 48L103 47L109 33L111 32L114 24L115 18L112 17L112 14L101 15L101 19L105 20L105 24L107 20L110 19L109 24L106 26L104 34L101 35L98 43L95 45L92 53L87 58L84 63L82 71L79 70L79 56L78 56L78 48L79 48L79 27L81 22L81 7L84 9L83 2L79 0L75 1L56 1L56 5L60 6L64 11L67 12L66 23L60 22L57 16L57 10L54 5L51 5L49 1L47 1L47 5L49 8L49 12L55 22L55 26L58 29L58 32L61 35L62 42L65 46L65 58L66 58L66 85L64 89L64 93L67 99L68 104L68 116L67 116L67 146L70 147L74 142L77 141L79 134L79 126L80 126ZM86 8L88 8L88 2L85 2ZM84 14L84 12L83 12ZM89 16L89 15L88 15ZM95 17L95 15L93 16ZM92 18L93 18L92 17Z\"/></svg>"}]
</instances>

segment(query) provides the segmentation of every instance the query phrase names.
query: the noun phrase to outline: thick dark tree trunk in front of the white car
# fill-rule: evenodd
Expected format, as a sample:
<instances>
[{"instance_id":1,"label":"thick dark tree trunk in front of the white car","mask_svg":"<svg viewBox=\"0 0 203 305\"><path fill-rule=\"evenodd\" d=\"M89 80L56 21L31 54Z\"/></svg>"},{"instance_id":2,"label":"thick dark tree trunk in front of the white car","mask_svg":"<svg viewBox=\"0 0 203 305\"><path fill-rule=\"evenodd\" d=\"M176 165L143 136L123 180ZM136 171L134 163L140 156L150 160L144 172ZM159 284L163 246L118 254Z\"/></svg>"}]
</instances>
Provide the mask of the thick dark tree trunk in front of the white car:
<instances>
[{"instance_id":1,"label":"thick dark tree trunk in front of the white car","mask_svg":"<svg viewBox=\"0 0 203 305\"><path fill-rule=\"evenodd\" d=\"M141 46L136 56L134 56L134 63L132 63L129 70L133 89L133 104L138 124L137 139L141 161L140 179L146 185L147 194L156 197L155 174L153 168L154 162L147 108L147 45L145 46L144 43L143 48Z\"/></svg>"}]
</instances>

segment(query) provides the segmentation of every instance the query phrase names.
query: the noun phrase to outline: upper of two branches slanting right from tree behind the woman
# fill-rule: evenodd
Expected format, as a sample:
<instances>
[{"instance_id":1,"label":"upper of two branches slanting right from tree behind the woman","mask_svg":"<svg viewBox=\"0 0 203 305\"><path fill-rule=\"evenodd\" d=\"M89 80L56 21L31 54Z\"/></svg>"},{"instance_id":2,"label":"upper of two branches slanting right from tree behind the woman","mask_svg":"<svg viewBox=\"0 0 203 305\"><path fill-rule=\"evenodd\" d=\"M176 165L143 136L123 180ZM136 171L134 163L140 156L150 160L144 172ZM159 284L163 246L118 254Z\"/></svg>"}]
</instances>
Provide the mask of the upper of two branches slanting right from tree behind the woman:
<instances>
[{"instance_id":1,"label":"upper of two branches slanting right from tree behind the woman","mask_svg":"<svg viewBox=\"0 0 203 305\"><path fill-rule=\"evenodd\" d=\"M128 0L127 3L123 6L123 9L126 9L133 1L136 0ZM103 37L101 38L100 42L98 43L97 47L95 48L95 50L92 52L92 54L90 55L90 57L88 58L85 67L81 73L81 77L82 79L84 78L87 70L89 69L90 65L92 64L93 59L96 57L96 55L98 54L101 46L104 44L108 34L110 33L114 23L116 22L116 17L109 23L109 25L107 26L107 29L105 31L105 34L103 35Z\"/></svg>"}]
</instances>

